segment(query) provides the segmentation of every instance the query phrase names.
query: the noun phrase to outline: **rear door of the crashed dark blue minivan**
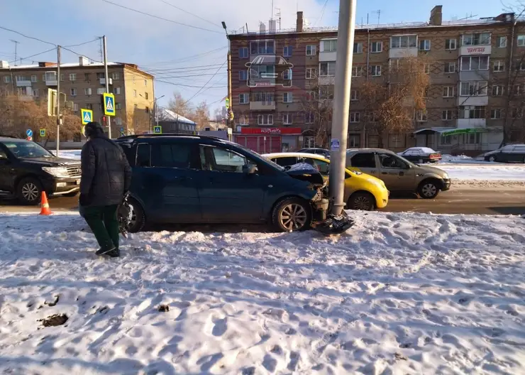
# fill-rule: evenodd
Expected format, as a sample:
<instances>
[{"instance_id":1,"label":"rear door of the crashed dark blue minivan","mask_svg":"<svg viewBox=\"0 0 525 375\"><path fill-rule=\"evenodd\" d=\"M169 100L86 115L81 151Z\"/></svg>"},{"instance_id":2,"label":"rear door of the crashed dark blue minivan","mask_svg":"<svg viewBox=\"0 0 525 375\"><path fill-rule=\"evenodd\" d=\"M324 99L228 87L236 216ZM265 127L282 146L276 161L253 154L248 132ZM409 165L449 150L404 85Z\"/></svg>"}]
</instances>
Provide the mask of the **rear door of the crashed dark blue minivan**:
<instances>
[{"instance_id":1,"label":"rear door of the crashed dark blue minivan","mask_svg":"<svg viewBox=\"0 0 525 375\"><path fill-rule=\"evenodd\" d=\"M197 183L197 144L140 143L133 167L133 190L153 222L195 223L202 214Z\"/></svg>"}]
</instances>

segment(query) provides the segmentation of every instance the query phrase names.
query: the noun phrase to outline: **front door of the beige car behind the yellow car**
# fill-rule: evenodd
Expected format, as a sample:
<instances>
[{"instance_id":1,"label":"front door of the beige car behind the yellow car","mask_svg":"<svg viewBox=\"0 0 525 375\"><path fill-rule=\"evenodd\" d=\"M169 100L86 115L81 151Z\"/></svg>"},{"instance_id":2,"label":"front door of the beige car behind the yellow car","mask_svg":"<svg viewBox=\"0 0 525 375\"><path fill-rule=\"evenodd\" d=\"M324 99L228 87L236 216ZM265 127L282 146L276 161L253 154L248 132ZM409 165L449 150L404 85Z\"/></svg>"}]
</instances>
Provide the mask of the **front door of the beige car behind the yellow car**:
<instances>
[{"instance_id":1,"label":"front door of the beige car behind the yellow car","mask_svg":"<svg viewBox=\"0 0 525 375\"><path fill-rule=\"evenodd\" d=\"M413 191L416 173L394 153L377 153L380 178L391 191Z\"/></svg>"}]
</instances>

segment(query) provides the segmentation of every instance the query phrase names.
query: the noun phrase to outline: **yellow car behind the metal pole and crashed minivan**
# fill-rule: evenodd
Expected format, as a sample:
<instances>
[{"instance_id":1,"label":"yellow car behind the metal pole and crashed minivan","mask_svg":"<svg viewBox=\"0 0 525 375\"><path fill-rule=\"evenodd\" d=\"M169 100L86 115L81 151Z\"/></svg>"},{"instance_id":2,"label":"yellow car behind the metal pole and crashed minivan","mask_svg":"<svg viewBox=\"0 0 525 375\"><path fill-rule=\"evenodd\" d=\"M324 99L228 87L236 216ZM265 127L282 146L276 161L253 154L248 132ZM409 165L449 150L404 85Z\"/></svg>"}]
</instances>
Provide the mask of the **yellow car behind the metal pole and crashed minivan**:
<instances>
[{"instance_id":1,"label":"yellow car behind the metal pole and crashed minivan","mask_svg":"<svg viewBox=\"0 0 525 375\"><path fill-rule=\"evenodd\" d=\"M297 163L308 163L314 165L317 170L328 179L330 161L321 155L313 153L267 153L263 155L282 167L289 167ZM345 195L346 208L350 210L372 211L375 208L383 208L388 204L389 192L385 183L379 178L364 173L356 173L353 170L345 171Z\"/></svg>"}]
</instances>

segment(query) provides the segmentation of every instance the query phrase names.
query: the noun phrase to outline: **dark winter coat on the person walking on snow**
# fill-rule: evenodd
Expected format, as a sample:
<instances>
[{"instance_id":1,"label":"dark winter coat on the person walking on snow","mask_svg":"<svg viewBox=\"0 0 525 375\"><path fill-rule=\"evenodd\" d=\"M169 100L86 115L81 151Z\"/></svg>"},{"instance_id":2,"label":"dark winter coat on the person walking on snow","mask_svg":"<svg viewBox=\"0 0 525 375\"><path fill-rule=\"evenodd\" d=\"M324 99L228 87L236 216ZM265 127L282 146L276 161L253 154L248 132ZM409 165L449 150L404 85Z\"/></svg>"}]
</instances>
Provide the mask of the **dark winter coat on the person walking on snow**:
<instances>
[{"instance_id":1,"label":"dark winter coat on the person walking on snow","mask_svg":"<svg viewBox=\"0 0 525 375\"><path fill-rule=\"evenodd\" d=\"M92 124L82 147L80 194L87 197L87 206L120 205L131 185L131 167L121 146L107 138L100 124Z\"/></svg>"}]
</instances>

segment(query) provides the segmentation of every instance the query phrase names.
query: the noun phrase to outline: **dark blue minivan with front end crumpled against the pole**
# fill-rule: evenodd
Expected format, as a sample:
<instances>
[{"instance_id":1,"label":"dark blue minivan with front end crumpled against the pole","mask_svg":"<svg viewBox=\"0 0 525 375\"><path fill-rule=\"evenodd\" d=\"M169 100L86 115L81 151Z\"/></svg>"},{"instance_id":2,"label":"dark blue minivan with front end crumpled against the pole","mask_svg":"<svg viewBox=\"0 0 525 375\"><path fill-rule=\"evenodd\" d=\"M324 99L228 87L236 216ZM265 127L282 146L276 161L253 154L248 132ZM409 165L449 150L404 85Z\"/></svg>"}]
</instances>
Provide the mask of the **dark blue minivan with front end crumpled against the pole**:
<instances>
[{"instance_id":1,"label":"dark blue minivan with front end crumpled against the pole","mask_svg":"<svg viewBox=\"0 0 525 375\"><path fill-rule=\"evenodd\" d=\"M127 232L145 224L272 224L282 232L351 227L328 214L326 182L310 165L283 168L237 143L210 136L118 138L133 168ZM121 224L122 226L122 224Z\"/></svg>"}]
</instances>

